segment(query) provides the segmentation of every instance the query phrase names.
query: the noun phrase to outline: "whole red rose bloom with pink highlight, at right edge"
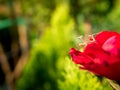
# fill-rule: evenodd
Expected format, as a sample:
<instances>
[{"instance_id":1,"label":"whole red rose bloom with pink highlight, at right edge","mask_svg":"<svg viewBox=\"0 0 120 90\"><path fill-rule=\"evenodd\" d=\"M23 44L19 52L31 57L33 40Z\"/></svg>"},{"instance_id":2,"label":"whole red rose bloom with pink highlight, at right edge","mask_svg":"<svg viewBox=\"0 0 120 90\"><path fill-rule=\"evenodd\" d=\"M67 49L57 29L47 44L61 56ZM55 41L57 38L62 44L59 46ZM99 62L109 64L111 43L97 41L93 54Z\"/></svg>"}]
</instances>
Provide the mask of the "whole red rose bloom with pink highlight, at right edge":
<instances>
[{"instance_id":1,"label":"whole red rose bloom with pink highlight, at right edge","mask_svg":"<svg viewBox=\"0 0 120 90\"><path fill-rule=\"evenodd\" d=\"M72 60L81 69L112 80L120 80L120 34L102 31L87 43L83 51L71 48Z\"/></svg>"}]
</instances>

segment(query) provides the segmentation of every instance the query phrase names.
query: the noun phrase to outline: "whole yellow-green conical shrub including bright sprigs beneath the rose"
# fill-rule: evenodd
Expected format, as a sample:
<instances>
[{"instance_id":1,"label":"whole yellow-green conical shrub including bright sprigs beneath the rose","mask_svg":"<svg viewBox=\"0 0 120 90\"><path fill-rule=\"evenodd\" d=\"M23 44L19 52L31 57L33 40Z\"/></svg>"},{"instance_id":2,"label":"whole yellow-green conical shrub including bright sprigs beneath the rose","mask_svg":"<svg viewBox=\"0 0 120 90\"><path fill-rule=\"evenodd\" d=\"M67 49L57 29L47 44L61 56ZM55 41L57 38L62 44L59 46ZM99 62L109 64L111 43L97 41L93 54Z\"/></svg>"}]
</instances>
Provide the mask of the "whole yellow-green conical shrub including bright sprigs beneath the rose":
<instances>
[{"instance_id":1,"label":"whole yellow-green conical shrub including bright sprigs beneath the rose","mask_svg":"<svg viewBox=\"0 0 120 90\"><path fill-rule=\"evenodd\" d=\"M34 39L30 60L16 82L17 90L112 90L104 79L100 81L95 75L79 70L70 59L68 52L78 44L78 31L66 2L57 2L49 25L39 39ZM81 25L82 17L79 16ZM82 26L79 29L79 33L84 32Z\"/></svg>"}]
</instances>

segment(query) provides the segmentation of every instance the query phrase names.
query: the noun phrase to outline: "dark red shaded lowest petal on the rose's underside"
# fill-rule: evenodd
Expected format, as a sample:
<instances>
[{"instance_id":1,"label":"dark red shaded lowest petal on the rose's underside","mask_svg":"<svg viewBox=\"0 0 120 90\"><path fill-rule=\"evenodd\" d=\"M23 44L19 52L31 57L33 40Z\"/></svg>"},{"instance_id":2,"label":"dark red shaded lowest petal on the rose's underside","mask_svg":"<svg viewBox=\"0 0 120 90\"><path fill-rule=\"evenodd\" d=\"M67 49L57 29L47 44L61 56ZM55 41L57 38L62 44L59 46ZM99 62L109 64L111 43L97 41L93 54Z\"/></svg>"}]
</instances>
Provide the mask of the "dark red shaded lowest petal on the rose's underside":
<instances>
[{"instance_id":1,"label":"dark red shaded lowest petal on the rose's underside","mask_svg":"<svg viewBox=\"0 0 120 90\"><path fill-rule=\"evenodd\" d=\"M89 71L112 80L120 80L120 62L113 63L108 67L94 65L94 68Z\"/></svg>"}]
</instances>

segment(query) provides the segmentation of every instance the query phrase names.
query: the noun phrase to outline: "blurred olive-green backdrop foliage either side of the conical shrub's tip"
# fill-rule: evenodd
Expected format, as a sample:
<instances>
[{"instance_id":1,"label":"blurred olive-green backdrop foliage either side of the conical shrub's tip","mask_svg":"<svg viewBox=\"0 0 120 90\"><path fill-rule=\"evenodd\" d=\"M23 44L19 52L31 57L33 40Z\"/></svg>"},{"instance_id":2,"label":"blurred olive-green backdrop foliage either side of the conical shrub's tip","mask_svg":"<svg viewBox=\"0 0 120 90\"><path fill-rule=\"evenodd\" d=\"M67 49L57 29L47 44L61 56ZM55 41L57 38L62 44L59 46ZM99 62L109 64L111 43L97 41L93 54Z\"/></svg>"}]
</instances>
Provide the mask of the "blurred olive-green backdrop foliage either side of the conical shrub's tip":
<instances>
[{"instance_id":1,"label":"blurred olive-green backdrop foliage either side of the conical shrub's tip","mask_svg":"<svg viewBox=\"0 0 120 90\"><path fill-rule=\"evenodd\" d=\"M119 31L120 0L21 0L23 15L28 22L31 40L41 35L50 26L52 13L59 4L68 4L75 30L81 34L82 24L89 22L92 32ZM82 32L83 34L83 32Z\"/></svg>"}]
</instances>

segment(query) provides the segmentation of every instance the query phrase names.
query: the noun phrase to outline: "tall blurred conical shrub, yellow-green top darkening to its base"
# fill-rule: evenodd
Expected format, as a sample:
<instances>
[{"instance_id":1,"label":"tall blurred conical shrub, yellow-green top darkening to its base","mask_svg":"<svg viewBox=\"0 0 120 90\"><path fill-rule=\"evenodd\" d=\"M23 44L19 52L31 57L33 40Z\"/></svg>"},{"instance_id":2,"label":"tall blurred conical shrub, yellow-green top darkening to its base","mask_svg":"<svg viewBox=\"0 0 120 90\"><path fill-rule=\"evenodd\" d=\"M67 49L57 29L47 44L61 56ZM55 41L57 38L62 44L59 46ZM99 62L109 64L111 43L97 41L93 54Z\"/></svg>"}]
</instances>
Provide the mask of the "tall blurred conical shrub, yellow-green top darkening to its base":
<instances>
[{"instance_id":1,"label":"tall blurred conical shrub, yellow-green top darkening to its base","mask_svg":"<svg viewBox=\"0 0 120 90\"><path fill-rule=\"evenodd\" d=\"M56 11L53 15L51 27L44 32L40 41L35 42L33 45L31 60L28 62L19 81L18 86L20 87L18 89L20 90L37 88L40 90L58 90L57 78L59 75L57 75L56 63L60 57L66 56L70 45L74 42L70 36L74 36L74 23L68 12L66 12L67 7L59 8L60 12ZM61 15L56 16L57 13L63 16L62 19L60 19Z\"/></svg>"}]
</instances>

